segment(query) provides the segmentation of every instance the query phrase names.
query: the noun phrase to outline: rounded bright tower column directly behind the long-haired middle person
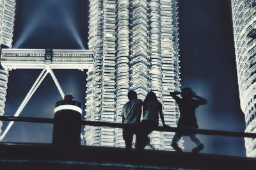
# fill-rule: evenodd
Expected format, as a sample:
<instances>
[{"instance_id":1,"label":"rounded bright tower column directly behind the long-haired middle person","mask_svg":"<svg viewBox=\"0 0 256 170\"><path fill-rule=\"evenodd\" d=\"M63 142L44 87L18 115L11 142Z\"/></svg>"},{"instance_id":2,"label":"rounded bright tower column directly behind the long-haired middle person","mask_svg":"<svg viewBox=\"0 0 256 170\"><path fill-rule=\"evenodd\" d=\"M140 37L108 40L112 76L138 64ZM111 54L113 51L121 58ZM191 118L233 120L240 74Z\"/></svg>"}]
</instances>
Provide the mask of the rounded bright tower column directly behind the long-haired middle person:
<instances>
[{"instance_id":1,"label":"rounded bright tower column directly behind the long-haired middle person","mask_svg":"<svg viewBox=\"0 0 256 170\"><path fill-rule=\"evenodd\" d=\"M162 49L160 0L152 0L148 2L148 21L150 89L154 91L154 93L156 93L157 99L159 100L159 102L161 102L161 104L163 104L163 62L161 55ZM154 148L163 150L163 132L152 132L150 137L150 143L154 145Z\"/></svg>"}]
</instances>

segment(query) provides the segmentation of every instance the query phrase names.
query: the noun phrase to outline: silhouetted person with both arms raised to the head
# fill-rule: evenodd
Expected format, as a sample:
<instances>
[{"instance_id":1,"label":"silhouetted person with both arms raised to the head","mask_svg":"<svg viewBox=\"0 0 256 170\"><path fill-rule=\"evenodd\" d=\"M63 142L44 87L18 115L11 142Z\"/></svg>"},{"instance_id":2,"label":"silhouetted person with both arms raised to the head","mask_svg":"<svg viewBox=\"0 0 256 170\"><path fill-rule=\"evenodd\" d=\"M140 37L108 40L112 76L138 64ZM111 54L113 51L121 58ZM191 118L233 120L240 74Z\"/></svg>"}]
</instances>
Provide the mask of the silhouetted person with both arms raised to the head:
<instances>
[{"instance_id":1,"label":"silhouetted person with both arms raised to the head","mask_svg":"<svg viewBox=\"0 0 256 170\"><path fill-rule=\"evenodd\" d=\"M207 104L207 100L202 97L198 97L190 88L184 88L180 92L171 92L171 96L176 100L177 104L179 105L180 110L180 118L177 127L192 127L198 128L195 116L195 109L199 105ZM182 98L177 97L177 95L181 95ZM189 134L189 133L180 133L177 132L172 140L172 147L174 150L178 152L182 152L182 149L178 146L178 142L182 135L189 135L191 141L196 144L196 148L193 148L193 153L198 153L199 151L204 149L204 144L202 144L199 139L196 137L196 134Z\"/></svg>"}]
</instances>

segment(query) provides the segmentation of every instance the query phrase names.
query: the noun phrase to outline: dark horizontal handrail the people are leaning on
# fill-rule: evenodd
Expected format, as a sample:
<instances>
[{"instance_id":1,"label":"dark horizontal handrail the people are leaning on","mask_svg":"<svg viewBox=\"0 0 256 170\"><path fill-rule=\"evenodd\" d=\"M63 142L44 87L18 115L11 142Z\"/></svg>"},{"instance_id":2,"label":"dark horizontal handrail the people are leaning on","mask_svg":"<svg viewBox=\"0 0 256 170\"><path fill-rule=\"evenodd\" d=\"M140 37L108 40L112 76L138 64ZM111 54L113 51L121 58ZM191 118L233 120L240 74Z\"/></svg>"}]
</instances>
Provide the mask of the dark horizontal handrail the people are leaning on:
<instances>
[{"instance_id":1,"label":"dark horizontal handrail the people are leaning on","mask_svg":"<svg viewBox=\"0 0 256 170\"><path fill-rule=\"evenodd\" d=\"M15 117L15 116L0 116L0 121L19 121L19 122L29 122L29 123L54 123L54 119L51 118L31 118L31 117ZM112 128L129 128L133 125L123 124L123 123L111 123L102 121L86 121L82 120L81 125L88 125L94 127L112 127ZM233 132L233 131L223 131L223 130L207 130L199 128L175 128L175 127L156 127L154 130L159 132L181 132L181 133L191 133L191 134L202 134L202 135L224 135L228 137L250 137L256 138L255 133L248 132Z\"/></svg>"}]
</instances>

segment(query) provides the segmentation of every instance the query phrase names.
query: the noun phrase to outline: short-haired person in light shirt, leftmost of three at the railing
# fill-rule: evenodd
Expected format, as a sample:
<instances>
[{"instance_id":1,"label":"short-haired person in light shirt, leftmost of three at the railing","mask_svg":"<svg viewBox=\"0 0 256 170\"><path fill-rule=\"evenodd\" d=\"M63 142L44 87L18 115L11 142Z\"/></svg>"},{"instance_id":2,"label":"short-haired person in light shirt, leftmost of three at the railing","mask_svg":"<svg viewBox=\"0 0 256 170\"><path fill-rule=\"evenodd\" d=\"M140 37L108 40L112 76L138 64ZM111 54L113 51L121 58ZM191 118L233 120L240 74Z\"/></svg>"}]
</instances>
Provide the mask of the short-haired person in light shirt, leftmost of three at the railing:
<instances>
[{"instance_id":1,"label":"short-haired person in light shirt, leftmost of three at the railing","mask_svg":"<svg viewBox=\"0 0 256 170\"><path fill-rule=\"evenodd\" d=\"M131 128L123 129L123 139L125 141L125 148L132 148L133 135L137 134L138 125L141 117L142 100L137 98L137 93L133 90L128 93L129 102L127 102L122 109L122 123L133 125Z\"/></svg>"}]
</instances>

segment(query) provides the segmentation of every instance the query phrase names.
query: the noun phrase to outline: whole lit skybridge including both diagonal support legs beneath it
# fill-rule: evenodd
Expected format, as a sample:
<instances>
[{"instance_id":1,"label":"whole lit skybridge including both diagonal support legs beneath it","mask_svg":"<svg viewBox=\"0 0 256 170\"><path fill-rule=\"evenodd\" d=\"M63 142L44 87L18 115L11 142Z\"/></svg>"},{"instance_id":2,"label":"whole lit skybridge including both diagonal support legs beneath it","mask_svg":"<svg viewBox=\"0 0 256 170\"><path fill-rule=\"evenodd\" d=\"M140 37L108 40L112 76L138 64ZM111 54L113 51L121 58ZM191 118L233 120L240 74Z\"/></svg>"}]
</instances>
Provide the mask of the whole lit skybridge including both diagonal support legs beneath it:
<instances>
[{"instance_id":1,"label":"whole lit skybridge including both diagonal support legs beneath it","mask_svg":"<svg viewBox=\"0 0 256 170\"><path fill-rule=\"evenodd\" d=\"M93 66L92 50L54 50L54 49L2 49L1 50L1 66L4 70L0 70L0 109L1 115L4 114L4 102L8 83L8 73L15 69L40 69L42 72L34 82L28 94L20 104L14 116L19 116L29 99L33 96L36 89L44 81L46 75L51 75L54 83L62 98L65 93L58 82L54 69L78 69L91 70ZM1 125L3 125L1 123ZM0 141L8 133L13 125L10 121L4 132L0 136Z\"/></svg>"}]
</instances>

